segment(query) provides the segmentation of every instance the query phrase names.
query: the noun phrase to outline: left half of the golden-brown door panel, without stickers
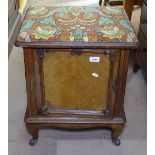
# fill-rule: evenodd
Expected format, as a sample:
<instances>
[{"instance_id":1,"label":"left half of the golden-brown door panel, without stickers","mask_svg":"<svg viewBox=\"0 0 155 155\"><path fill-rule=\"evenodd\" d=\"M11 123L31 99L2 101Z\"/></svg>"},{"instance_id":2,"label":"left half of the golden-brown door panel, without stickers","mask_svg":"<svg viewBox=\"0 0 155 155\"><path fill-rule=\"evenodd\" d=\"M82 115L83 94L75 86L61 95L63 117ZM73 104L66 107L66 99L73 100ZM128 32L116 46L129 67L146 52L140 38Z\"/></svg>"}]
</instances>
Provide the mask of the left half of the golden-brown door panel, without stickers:
<instances>
[{"instance_id":1,"label":"left half of the golden-brown door panel, without stickers","mask_svg":"<svg viewBox=\"0 0 155 155\"><path fill-rule=\"evenodd\" d=\"M45 105L75 109L76 56L69 52L46 53L43 61Z\"/></svg>"}]
</instances>

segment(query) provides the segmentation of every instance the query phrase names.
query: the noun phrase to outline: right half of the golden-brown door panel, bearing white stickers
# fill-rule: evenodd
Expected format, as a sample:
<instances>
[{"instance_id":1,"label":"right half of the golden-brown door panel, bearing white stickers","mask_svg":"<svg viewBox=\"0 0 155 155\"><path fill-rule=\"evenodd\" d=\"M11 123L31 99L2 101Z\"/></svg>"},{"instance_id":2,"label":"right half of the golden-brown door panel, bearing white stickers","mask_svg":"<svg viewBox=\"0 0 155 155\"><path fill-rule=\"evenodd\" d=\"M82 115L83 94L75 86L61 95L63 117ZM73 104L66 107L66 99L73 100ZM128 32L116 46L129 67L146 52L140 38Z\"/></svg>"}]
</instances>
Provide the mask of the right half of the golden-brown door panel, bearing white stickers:
<instances>
[{"instance_id":1,"label":"right half of the golden-brown door panel, bearing white stickers","mask_svg":"<svg viewBox=\"0 0 155 155\"><path fill-rule=\"evenodd\" d=\"M99 62L90 62L99 58ZM77 56L76 105L80 110L106 109L109 56L83 53Z\"/></svg>"}]
</instances>

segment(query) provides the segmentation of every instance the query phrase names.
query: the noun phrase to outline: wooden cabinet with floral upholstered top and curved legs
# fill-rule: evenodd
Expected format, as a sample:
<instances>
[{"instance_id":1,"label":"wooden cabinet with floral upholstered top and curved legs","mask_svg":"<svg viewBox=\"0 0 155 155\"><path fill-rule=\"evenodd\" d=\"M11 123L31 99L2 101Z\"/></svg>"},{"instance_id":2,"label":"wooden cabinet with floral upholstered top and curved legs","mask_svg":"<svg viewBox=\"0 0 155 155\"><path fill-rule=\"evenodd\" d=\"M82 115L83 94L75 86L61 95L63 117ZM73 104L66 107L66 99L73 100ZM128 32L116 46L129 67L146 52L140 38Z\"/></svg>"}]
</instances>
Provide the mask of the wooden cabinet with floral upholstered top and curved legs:
<instances>
[{"instance_id":1,"label":"wooden cabinet with floral upholstered top and curved legs","mask_svg":"<svg viewBox=\"0 0 155 155\"><path fill-rule=\"evenodd\" d=\"M49 126L109 128L120 144L129 51L138 47L123 9L32 7L16 46L24 49L31 145Z\"/></svg>"}]
</instances>

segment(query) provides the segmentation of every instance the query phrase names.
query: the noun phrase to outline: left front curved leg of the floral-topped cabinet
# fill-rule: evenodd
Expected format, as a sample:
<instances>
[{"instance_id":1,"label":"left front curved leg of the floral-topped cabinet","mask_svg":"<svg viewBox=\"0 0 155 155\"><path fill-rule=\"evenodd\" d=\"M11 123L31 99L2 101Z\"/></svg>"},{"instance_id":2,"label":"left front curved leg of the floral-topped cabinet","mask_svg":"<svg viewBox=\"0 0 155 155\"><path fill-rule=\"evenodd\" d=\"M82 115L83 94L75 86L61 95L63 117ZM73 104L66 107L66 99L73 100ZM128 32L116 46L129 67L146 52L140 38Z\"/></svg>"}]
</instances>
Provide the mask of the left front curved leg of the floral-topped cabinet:
<instances>
[{"instance_id":1,"label":"left front curved leg of the floral-topped cabinet","mask_svg":"<svg viewBox=\"0 0 155 155\"><path fill-rule=\"evenodd\" d=\"M33 146L38 141L38 127L34 124L26 124L26 127L29 134L32 136L32 139L30 139L29 144Z\"/></svg>"}]
</instances>

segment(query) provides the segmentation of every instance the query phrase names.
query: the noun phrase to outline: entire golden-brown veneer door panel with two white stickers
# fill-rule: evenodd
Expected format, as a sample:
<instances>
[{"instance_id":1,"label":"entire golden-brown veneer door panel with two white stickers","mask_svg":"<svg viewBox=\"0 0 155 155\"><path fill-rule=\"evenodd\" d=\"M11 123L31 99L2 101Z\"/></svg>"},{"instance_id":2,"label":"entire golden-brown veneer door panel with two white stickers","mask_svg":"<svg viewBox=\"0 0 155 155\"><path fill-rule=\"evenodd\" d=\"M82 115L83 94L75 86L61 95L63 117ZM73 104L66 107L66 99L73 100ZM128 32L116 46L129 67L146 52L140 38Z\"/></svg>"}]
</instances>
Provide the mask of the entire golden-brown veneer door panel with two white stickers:
<instances>
[{"instance_id":1,"label":"entire golden-brown veneer door panel with two white stickers","mask_svg":"<svg viewBox=\"0 0 155 155\"><path fill-rule=\"evenodd\" d=\"M46 53L43 61L46 106L53 109L106 109L108 58L108 55L94 53L80 56L59 51Z\"/></svg>"}]
</instances>

